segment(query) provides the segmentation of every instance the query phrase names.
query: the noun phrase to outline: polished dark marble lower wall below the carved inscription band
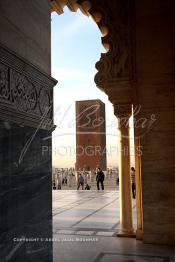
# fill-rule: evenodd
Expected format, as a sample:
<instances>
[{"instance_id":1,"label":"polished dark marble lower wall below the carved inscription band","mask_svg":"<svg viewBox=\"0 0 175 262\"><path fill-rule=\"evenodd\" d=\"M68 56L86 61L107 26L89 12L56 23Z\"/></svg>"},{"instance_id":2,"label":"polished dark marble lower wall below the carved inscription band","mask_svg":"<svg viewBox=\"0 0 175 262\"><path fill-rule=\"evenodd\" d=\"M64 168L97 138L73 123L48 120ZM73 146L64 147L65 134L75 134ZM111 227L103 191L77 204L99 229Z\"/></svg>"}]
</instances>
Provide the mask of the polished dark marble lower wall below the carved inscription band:
<instances>
[{"instance_id":1,"label":"polished dark marble lower wall below the carved inscription band","mask_svg":"<svg viewBox=\"0 0 175 262\"><path fill-rule=\"evenodd\" d=\"M50 135L0 122L1 261L52 261Z\"/></svg>"}]
</instances>

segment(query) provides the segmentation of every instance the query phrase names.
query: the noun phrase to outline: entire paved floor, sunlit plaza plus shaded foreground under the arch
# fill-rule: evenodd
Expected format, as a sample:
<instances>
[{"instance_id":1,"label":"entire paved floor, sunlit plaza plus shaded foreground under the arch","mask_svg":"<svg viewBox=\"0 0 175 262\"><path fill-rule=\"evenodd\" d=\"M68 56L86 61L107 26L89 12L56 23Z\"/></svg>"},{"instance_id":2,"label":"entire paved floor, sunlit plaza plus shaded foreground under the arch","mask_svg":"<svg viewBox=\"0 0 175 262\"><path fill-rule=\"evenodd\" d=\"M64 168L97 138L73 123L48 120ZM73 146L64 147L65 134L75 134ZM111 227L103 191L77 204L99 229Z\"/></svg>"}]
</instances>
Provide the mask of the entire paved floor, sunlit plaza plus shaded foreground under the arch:
<instances>
[{"instance_id":1,"label":"entire paved floor, sunlit plaza plus shaded foreground under the arch","mask_svg":"<svg viewBox=\"0 0 175 262\"><path fill-rule=\"evenodd\" d=\"M54 262L175 261L174 248L118 238L118 229L118 191L53 191Z\"/></svg>"}]
</instances>

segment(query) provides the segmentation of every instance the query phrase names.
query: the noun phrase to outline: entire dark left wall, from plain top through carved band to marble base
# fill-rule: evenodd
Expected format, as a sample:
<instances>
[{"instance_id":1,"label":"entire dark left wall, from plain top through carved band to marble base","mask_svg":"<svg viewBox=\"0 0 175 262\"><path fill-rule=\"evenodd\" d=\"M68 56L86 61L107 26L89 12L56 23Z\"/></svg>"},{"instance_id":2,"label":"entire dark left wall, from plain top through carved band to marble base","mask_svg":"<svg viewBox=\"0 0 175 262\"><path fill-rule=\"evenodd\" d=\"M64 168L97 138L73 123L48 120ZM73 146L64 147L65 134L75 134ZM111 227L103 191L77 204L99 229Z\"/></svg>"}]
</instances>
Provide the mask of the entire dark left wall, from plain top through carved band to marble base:
<instances>
[{"instance_id":1,"label":"entire dark left wall, from plain top through carved band to marble base","mask_svg":"<svg viewBox=\"0 0 175 262\"><path fill-rule=\"evenodd\" d=\"M53 128L56 83L50 77L51 5L7 0L0 11L0 261L49 262L51 138L43 139Z\"/></svg>"}]
</instances>

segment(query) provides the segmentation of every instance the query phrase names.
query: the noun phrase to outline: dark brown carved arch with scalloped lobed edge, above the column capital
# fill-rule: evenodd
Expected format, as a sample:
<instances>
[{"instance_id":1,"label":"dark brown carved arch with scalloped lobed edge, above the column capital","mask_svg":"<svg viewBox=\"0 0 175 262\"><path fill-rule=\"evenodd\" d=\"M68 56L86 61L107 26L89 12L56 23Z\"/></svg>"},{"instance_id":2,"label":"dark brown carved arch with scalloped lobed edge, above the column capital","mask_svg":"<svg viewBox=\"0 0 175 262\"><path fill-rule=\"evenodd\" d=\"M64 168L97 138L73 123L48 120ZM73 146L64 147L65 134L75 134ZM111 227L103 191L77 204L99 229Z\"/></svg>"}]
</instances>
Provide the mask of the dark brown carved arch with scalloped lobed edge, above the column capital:
<instances>
[{"instance_id":1,"label":"dark brown carved arch with scalloped lobed edge, above the column capital","mask_svg":"<svg viewBox=\"0 0 175 262\"><path fill-rule=\"evenodd\" d=\"M116 83L129 82L135 76L134 0L51 0L54 11L63 13L65 5L90 15L102 32L106 53L96 63L96 85L108 94ZM59 3L59 8L55 8Z\"/></svg>"}]
</instances>

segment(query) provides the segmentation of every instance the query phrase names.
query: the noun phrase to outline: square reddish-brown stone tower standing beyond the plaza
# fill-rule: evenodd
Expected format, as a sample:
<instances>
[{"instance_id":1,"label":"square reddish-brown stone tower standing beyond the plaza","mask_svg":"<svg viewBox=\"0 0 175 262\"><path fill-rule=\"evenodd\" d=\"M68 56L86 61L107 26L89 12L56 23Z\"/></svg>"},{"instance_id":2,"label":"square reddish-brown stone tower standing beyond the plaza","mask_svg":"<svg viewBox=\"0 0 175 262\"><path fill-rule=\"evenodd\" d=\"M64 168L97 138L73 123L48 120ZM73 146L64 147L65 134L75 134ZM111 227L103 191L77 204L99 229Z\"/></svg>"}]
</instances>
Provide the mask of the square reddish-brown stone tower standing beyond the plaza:
<instances>
[{"instance_id":1,"label":"square reddish-brown stone tower standing beyond the plaza","mask_svg":"<svg viewBox=\"0 0 175 262\"><path fill-rule=\"evenodd\" d=\"M105 104L76 101L76 170L106 170Z\"/></svg>"}]
</instances>

